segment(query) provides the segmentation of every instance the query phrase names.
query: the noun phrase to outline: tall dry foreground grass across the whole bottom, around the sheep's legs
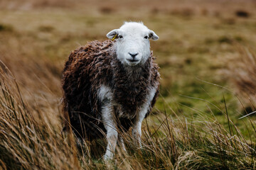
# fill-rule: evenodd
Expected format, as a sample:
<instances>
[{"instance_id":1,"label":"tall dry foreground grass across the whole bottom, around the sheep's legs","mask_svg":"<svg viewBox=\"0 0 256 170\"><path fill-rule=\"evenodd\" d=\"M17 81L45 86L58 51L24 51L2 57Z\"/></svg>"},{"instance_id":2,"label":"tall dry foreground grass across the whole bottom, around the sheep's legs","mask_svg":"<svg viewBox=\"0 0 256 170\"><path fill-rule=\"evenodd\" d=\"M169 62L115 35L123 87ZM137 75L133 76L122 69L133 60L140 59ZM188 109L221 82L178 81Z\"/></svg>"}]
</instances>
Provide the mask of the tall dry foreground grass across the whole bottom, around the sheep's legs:
<instances>
[{"instance_id":1,"label":"tall dry foreground grass across the whole bottom, around the sheep's legs","mask_svg":"<svg viewBox=\"0 0 256 170\"><path fill-rule=\"evenodd\" d=\"M31 108L7 67L1 69L0 88L1 169L255 169L255 143L244 139L228 110L228 131L214 115L199 111L196 121L159 113L157 120L146 120L141 149L127 134L128 154L117 149L115 161L105 164L90 154L92 144L77 149L72 134L63 136L39 106ZM250 123L248 132L255 134Z\"/></svg>"}]
</instances>

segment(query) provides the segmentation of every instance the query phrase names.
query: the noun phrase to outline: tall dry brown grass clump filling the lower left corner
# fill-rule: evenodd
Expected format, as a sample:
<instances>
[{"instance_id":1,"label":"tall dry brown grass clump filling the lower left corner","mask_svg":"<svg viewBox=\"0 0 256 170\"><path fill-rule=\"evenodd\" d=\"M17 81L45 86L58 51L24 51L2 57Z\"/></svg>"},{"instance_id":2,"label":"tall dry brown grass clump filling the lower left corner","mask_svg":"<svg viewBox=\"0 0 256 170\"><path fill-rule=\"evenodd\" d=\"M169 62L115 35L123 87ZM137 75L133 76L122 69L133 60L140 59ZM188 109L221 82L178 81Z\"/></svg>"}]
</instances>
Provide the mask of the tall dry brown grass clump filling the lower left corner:
<instances>
[{"instance_id":1,"label":"tall dry brown grass clump filling the lower left corner","mask_svg":"<svg viewBox=\"0 0 256 170\"><path fill-rule=\"evenodd\" d=\"M0 70L1 168L78 169L73 142L63 138L40 106L28 105L15 77L4 68Z\"/></svg>"}]
</instances>

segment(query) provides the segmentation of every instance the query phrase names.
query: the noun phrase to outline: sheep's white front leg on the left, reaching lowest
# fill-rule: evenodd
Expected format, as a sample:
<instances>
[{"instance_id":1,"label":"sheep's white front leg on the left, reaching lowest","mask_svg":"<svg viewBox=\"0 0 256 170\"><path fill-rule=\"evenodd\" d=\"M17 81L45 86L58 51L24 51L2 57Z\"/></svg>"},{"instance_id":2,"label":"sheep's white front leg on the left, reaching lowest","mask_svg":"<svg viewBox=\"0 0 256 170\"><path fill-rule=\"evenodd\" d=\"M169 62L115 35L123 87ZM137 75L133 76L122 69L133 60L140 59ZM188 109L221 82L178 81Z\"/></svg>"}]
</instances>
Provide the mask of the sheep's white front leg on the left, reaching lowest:
<instances>
[{"instance_id":1,"label":"sheep's white front leg on the left, reaching lowest","mask_svg":"<svg viewBox=\"0 0 256 170\"><path fill-rule=\"evenodd\" d=\"M102 107L102 119L105 129L107 130L107 149L103 159L112 159L114 157L114 150L117 145L117 123L114 120L114 113L112 106L106 104Z\"/></svg>"}]
</instances>

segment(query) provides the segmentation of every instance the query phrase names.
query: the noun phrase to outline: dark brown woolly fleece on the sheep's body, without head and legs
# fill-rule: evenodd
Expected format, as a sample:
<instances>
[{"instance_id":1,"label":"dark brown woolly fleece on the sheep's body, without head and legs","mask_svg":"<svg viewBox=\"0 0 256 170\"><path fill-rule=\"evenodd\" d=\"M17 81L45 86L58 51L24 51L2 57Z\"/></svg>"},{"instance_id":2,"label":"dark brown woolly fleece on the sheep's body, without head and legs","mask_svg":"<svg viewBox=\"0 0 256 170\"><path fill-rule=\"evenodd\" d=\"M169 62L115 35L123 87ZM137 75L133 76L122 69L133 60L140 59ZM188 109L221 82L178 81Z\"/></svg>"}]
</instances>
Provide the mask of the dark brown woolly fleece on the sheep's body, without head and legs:
<instances>
[{"instance_id":1,"label":"dark brown woolly fleece on the sheep's body, without head and legs","mask_svg":"<svg viewBox=\"0 0 256 170\"><path fill-rule=\"evenodd\" d=\"M145 102L150 86L158 86L151 107L159 94L159 67L154 57L145 64L125 67L114 50L114 42L92 41L71 52L63 70L63 103L67 120L77 137L93 140L106 132L101 118L97 91L102 84L112 89L114 103L125 115L118 118L119 128L129 130L137 109ZM128 68L128 69L127 69ZM115 112L119 111L116 107Z\"/></svg>"}]
</instances>

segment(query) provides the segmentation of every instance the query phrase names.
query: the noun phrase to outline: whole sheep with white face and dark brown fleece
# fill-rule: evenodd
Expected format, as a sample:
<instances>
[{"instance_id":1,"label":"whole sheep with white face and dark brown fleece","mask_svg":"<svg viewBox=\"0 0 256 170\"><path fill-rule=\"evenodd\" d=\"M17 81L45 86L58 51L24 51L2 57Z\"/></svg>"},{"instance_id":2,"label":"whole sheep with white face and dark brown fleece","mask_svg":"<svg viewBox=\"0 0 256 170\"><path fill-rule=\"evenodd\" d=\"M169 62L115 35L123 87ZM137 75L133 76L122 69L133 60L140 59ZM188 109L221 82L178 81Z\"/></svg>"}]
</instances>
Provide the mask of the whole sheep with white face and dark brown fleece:
<instances>
[{"instance_id":1,"label":"whole sheep with white face and dark brown fleece","mask_svg":"<svg viewBox=\"0 0 256 170\"><path fill-rule=\"evenodd\" d=\"M112 159L118 144L125 150L120 132L132 127L142 147L142 120L159 94L158 65L149 39L158 40L143 23L125 22L107 38L71 52L63 69L63 108L76 137L107 138L103 159Z\"/></svg>"}]
</instances>

